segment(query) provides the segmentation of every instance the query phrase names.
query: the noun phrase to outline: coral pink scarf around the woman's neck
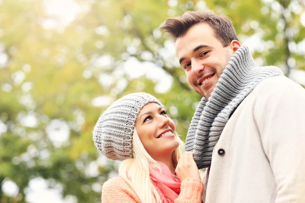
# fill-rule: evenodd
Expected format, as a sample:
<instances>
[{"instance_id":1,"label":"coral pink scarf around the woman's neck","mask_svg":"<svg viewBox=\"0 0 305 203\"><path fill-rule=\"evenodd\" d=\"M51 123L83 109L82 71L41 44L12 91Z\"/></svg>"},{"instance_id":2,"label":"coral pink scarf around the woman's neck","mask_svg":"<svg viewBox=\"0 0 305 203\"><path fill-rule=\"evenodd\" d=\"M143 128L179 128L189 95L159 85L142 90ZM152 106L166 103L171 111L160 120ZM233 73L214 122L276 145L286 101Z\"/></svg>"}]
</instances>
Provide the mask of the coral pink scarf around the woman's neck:
<instances>
[{"instance_id":1,"label":"coral pink scarf around the woman's neck","mask_svg":"<svg viewBox=\"0 0 305 203\"><path fill-rule=\"evenodd\" d=\"M167 165L161 162L158 163L162 173L150 168L150 179L156 185L157 191L162 193L160 194L161 199L162 195L164 195L167 200L174 202L180 193L181 181L171 173Z\"/></svg>"}]
</instances>

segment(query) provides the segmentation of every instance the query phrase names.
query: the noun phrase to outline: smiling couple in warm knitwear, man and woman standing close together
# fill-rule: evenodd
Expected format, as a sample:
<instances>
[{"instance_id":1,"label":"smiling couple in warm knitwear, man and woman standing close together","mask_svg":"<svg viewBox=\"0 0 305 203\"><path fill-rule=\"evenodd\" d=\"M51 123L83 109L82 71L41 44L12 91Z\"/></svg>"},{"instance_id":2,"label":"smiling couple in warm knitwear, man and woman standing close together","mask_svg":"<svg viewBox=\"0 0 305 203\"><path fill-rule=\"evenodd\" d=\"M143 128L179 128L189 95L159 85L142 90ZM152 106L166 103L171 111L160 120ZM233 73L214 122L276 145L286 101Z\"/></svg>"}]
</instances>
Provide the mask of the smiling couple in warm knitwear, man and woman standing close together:
<instances>
[{"instance_id":1,"label":"smiling couple in warm knitwear, man and woman standing close together","mask_svg":"<svg viewBox=\"0 0 305 203\"><path fill-rule=\"evenodd\" d=\"M186 152L156 97L116 100L93 132L99 152L123 161L102 202L305 202L305 90L258 67L227 17L187 12L160 28L202 95Z\"/></svg>"}]
</instances>

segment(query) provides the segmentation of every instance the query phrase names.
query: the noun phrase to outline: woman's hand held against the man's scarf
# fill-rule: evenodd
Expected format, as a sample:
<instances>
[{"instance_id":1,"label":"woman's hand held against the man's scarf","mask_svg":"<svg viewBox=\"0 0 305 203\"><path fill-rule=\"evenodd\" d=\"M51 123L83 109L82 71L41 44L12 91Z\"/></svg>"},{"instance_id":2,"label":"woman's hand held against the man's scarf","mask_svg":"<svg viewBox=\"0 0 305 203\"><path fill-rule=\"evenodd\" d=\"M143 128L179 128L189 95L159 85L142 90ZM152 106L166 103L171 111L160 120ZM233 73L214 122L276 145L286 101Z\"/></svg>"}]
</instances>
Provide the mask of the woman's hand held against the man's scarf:
<instances>
[{"instance_id":1,"label":"woman's hand held against the man's scarf","mask_svg":"<svg viewBox=\"0 0 305 203\"><path fill-rule=\"evenodd\" d=\"M182 182L187 178L200 179L198 167L194 161L194 152L185 152L179 159L176 167L176 175Z\"/></svg>"}]
</instances>

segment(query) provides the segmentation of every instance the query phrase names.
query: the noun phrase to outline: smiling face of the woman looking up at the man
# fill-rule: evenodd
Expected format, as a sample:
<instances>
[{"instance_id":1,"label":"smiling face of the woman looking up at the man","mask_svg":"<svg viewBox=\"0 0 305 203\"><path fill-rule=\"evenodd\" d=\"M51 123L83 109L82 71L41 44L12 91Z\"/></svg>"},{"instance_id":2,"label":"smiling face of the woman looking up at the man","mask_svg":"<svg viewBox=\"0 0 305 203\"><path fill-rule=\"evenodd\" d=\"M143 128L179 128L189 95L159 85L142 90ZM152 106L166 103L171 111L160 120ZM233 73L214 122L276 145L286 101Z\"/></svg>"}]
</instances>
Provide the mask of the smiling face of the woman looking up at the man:
<instances>
[{"instance_id":1,"label":"smiling face of the woman looking up at the man","mask_svg":"<svg viewBox=\"0 0 305 203\"><path fill-rule=\"evenodd\" d=\"M141 109L135 127L145 150L157 161L171 155L179 146L173 120L156 103L148 103Z\"/></svg>"}]
</instances>

